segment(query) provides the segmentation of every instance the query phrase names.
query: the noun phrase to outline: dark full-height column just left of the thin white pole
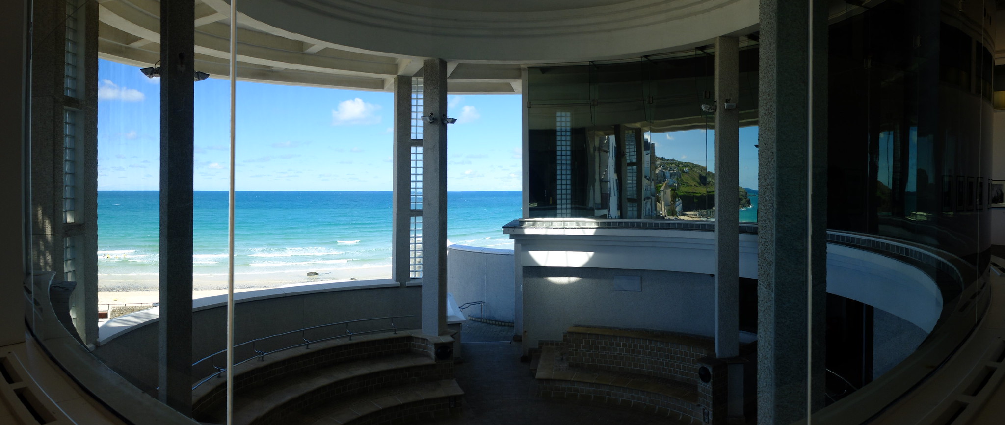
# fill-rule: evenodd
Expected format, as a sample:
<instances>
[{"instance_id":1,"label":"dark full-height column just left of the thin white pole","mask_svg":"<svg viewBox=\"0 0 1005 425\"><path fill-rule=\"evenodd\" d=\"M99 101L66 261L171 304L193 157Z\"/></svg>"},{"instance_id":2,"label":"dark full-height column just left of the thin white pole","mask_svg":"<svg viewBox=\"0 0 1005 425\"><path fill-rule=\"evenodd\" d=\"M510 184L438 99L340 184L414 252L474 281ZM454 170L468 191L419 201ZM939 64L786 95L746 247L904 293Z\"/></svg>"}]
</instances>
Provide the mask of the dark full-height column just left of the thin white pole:
<instances>
[{"instance_id":1,"label":"dark full-height column just left of the thin white pole","mask_svg":"<svg viewBox=\"0 0 1005 425\"><path fill-rule=\"evenodd\" d=\"M195 6L161 0L161 402L192 410L192 172Z\"/></svg>"}]
</instances>

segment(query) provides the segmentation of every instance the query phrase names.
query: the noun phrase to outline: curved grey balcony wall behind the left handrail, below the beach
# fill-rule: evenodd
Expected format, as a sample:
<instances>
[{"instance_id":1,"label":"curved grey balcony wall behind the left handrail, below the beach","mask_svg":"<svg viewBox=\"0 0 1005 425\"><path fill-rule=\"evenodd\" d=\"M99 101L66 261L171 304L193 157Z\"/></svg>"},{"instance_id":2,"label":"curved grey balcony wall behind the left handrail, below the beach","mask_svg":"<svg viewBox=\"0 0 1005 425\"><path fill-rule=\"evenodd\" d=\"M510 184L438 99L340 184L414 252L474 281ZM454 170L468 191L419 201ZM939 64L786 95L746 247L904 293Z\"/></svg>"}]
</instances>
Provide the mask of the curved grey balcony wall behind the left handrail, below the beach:
<instances>
[{"instance_id":1,"label":"curved grey balcony wall behind the left handrail, below the beach","mask_svg":"<svg viewBox=\"0 0 1005 425\"><path fill-rule=\"evenodd\" d=\"M418 285L402 287L387 279L241 292L235 296L234 341L240 344L309 327L392 315L412 315L396 320L394 325L401 329L416 329L421 317L420 289ZM218 295L195 299L192 306L193 335L197 336L193 340L192 351L192 362L195 362L226 348L226 297ZM385 329L388 325L387 321L363 323L347 329L359 333ZM157 328L156 307L109 321L100 329L102 335L93 354L137 388L156 396ZM345 330L337 328L328 331L340 335ZM322 334L309 338L323 338L327 331L319 332ZM299 344L300 337L290 335L284 339L269 340L263 345L272 347L268 350L274 350ZM254 353L247 349L244 348L244 353L235 352L235 358L253 356ZM222 361L223 357L218 360ZM193 370L193 376L202 379L216 372L209 362L203 362Z\"/></svg>"}]
</instances>

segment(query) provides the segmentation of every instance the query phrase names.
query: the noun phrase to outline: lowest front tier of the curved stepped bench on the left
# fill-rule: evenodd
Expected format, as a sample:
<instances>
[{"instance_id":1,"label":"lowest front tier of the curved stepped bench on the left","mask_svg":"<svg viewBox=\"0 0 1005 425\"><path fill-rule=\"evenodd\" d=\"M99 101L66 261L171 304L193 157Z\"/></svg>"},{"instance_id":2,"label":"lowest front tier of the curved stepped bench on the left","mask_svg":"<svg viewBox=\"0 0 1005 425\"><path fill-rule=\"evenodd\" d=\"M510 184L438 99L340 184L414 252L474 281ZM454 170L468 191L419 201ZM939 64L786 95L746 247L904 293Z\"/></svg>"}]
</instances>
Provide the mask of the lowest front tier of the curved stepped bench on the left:
<instances>
[{"instance_id":1,"label":"lowest front tier of the curved stepped bench on the left","mask_svg":"<svg viewBox=\"0 0 1005 425\"><path fill-rule=\"evenodd\" d=\"M312 409L286 415L281 422L275 423L408 424L458 413L463 395L464 392L452 379L395 386L340 399L331 404L316 405Z\"/></svg>"}]
</instances>

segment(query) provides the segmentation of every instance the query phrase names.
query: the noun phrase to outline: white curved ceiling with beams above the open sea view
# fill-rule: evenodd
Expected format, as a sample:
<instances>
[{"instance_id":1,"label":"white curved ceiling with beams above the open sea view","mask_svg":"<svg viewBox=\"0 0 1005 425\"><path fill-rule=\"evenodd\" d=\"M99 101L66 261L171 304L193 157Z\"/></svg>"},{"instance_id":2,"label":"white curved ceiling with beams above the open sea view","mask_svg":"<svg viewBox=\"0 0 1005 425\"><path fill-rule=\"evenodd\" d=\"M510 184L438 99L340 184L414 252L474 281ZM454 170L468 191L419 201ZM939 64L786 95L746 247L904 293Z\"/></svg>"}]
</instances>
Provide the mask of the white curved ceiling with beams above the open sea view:
<instances>
[{"instance_id":1,"label":"white curved ceiling with beams above the open sea view","mask_svg":"<svg viewBox=\"0 0 1005 425\"><path fill-rule=\"evenodd\" d=\"M229 8L195 0L196 59L229 72ZM639 57L745 34L757 0L244 0L238 3L243 80L388 90L422 60L447 60L451 92L519 92L521 67ZM103 58L159 58L159 0L98 4Z\"/></svg>"}]
</instances>

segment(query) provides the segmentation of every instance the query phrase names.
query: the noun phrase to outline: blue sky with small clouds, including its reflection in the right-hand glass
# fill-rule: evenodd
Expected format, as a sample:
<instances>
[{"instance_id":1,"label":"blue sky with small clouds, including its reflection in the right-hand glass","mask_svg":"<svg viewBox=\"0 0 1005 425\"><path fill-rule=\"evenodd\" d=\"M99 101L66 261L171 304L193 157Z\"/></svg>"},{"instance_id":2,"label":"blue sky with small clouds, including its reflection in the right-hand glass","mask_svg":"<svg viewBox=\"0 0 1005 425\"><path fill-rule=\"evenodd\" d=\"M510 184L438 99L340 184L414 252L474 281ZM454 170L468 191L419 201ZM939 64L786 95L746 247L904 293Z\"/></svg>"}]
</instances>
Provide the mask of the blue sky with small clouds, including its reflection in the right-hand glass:
<instances>
[{"instance_id":1,"label":"blue sky with small clouds, including its reflection in the right-hand glass","mask_svg":"<svg viewBox=\"0 0 1005 425\"><path fill-rule=\"evenodd\" d=\"M98 190L158 190L159 79L100 60L98 80ZM195 189L227 190L229 82L209 78L195 87ZM238 82L236 189L390 191L392 100L390 92ZM458 119L448 128L448 190L521 190L520 95L447 102ZM741 186L757 188L756 142L745 143L751 129L756 140L756 128L741 130ZM660 156L706 162L701 131L652 139Z\"/></svg>"}]
</instances>

